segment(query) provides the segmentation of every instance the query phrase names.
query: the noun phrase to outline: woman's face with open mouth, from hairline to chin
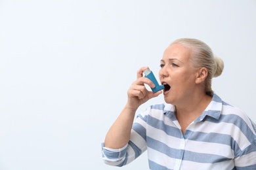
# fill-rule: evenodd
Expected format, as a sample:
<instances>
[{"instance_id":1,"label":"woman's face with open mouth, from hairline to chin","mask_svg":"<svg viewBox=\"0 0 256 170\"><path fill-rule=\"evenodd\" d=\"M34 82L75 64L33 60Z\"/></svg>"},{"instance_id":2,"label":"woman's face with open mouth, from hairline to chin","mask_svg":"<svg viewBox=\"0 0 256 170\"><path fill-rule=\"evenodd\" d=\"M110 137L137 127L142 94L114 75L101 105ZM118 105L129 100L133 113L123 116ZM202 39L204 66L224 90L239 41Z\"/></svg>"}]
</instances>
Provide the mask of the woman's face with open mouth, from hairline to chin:
<instances>
[{"instance_id":1,"label":"woman's face with open mouth, from hairline to chin","mask_svg":"<svg viewBox=\"0 0 256 170\"><path fill-rule=\"evenodd\" d=\"M165 85L166 103L179 105L188 101L196 86L196 69L192 67L191 52L181 44L168 46L160 62L159 76Z\"/></svg>"}]
</instances>

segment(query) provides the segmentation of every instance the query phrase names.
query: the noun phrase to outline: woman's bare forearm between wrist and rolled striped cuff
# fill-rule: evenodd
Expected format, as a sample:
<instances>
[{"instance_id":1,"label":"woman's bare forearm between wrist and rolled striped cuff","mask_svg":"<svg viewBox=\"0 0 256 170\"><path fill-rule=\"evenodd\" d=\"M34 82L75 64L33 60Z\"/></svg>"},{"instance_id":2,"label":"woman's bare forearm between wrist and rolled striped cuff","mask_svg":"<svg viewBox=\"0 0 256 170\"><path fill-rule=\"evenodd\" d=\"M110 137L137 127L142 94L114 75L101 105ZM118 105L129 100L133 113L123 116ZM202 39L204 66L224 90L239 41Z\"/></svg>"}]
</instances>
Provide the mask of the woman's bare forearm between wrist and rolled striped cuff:
<instances>
[{"instance_id":1,"label":"woman's bare forearm between wrist and rolled striped cuff","mask_svg":"<svg viewBox=\"0 0 256 170\"><path fill-rule=\"evenodd\" d=\"M106 134L105 147L123 148L129 142L136 110L125 106Z\"/></svg>"}]
</instances>

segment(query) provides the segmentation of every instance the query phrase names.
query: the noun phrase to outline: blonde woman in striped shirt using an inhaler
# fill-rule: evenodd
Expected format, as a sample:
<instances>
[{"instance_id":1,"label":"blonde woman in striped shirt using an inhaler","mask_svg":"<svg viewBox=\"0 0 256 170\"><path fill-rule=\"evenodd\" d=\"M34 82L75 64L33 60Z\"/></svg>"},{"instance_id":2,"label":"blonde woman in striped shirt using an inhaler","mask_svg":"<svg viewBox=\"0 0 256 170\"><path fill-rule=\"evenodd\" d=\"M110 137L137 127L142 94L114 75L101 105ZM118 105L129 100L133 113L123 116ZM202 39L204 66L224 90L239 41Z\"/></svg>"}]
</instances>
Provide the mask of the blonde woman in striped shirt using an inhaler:
<instances>
[{"instance_id":1,"label":"blonde woman in striped shirt using an inhaler","mask_svg":"<svg viewBox=\"0 0 256 170\"><path fill-rule=\"evenodd\" d=\"M167 47L160 63L165 103L137 116L138 107L162 93L146 90L154 84L137 72L127 104L102 144L103 160L123 166L148 150L150 169L256 169L255 124L242 110L211 90L223 61L197 39L178 39Z\"/></svg>"}]
</instances>

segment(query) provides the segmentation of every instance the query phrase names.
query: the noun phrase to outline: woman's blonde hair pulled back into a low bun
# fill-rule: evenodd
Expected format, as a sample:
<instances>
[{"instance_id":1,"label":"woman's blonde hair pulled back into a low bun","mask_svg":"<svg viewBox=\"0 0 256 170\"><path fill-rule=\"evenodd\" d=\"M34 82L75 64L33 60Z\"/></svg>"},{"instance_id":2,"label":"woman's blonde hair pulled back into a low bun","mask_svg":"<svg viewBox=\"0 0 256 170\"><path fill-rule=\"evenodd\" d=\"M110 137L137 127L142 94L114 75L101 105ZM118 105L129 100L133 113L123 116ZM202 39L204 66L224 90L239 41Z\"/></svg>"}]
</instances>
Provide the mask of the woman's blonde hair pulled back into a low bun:
<instances>
[{"instance_id":1,"label":"woman's blonde hair pulled back into a low bun","mask_svg":"<svg viewBox=\"0 0 256 170\"><path fill-rule=\"evenodd\" d=\"M194 67L205 67L207 69L208 74L205 78L205 93L212 96L211 79L223 73L223 60L213 55L211 48L205 44L205 42L198 39L177 39L171 44L182 44L182 46L191 50L191 58Z\"/></svg>"}]
</instances>

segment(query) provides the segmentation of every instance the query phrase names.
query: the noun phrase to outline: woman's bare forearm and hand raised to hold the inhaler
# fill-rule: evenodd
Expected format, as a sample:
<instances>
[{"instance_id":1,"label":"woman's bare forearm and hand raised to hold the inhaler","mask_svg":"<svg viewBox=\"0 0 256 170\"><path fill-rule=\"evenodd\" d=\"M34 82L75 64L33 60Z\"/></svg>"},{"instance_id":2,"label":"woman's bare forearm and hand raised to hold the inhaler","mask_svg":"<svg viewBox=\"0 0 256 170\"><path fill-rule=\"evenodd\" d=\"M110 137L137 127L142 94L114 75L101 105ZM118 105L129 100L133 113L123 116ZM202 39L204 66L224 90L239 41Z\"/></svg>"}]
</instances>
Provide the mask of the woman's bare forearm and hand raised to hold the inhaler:
<instances>
[{"instance_id":1,"label":"woman's bare forearm and hand raised to hold the inhaler","mask_svg":"<svg viewBox=\"0 0 256 170\"><path fill-rule=\"evenodd\" d=\"M136 110L142 103L160 95L161 91L156 93L149 92L144 86L144 84L148 84L148 86L154 88L153 82L145 78L142 74L147 68L142 67L137 71L137 80L131 84L127 92L127 104L106 134L104 141L105 147L114 149L123 148L129 142Z\"/></svg>"}]
</instances>

